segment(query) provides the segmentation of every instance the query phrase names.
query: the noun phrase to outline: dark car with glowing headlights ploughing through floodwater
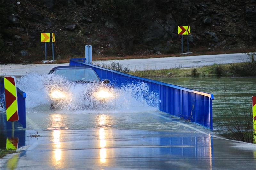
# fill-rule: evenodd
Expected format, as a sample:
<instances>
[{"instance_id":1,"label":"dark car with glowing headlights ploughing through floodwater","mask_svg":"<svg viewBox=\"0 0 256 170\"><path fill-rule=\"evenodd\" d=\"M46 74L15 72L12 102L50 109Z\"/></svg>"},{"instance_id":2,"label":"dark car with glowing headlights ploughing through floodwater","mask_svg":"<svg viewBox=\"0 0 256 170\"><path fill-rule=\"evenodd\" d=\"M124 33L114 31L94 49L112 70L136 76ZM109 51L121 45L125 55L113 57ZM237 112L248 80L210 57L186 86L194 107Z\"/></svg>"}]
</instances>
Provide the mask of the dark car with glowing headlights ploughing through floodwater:
<instances>
[{"instance_id":1,"label":"dark car with glowing headlights ploughing through floodwater","mask_svg":"<svg viewBox=\"0 0 256 170\"><path fill-rule=\"evenodd\" d=\"M72 98L72 92L69 92L72 85L88 85L90 89L86 92L81 92L83 100L92 100L92 104L104 104L111 98L113 98L113 90L108 87L110 82L108 79L100 81L97 73L87 66L58 66L52 68L48 75L54 74L63 77L68 83L65 84L48 84L50 106L52 109L61 109L63 106L70 103ZM52 81L53 82L53 81ZM69 86L69 87L68 87ZM81 94L80 93L80 94ZM79 108L86 108L87 106L80 106Z\"/></svg>"}]
</instances>

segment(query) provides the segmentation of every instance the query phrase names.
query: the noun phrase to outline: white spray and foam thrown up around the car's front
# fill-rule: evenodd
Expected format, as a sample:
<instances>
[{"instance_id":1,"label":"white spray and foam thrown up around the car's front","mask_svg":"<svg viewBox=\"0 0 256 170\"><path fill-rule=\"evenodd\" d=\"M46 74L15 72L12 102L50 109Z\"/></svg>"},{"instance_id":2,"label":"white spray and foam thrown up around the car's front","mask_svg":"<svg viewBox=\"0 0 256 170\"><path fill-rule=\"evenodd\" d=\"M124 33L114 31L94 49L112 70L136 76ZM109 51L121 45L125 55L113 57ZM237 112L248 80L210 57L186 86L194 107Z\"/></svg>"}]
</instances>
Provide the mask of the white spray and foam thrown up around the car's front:
<instances>
[{"instance_id":1,"label":"white spray and foam thrown up around the car's front","mask_svg":"<svg viewBox=\"0 0 256 170\"><path fill-rule=\"evenodd\" d=\"M145 83L126 84L114 88L104 84L77 84L58 75L28 74L17 80L17 86L26 92L27 112L50 111L50 92L58 90L68 96L61 101L58 113L152 112L158 110L158 94L150 92ZM107 102L99 102L92 94L105 89L113 94ZM76 110L76 111L74 111Z\"/></svg>"}]
</instances>

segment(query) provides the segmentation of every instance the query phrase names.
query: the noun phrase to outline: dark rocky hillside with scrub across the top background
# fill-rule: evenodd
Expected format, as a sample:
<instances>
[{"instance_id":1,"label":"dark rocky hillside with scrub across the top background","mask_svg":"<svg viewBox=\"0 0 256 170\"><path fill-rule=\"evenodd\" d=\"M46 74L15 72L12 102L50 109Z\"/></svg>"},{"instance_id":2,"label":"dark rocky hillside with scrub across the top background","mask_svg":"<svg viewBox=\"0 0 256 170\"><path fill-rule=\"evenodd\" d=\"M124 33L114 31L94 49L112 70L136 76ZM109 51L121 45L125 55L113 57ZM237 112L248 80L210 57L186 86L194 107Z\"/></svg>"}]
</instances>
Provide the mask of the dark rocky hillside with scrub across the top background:
<instances>
[{"instance_id":1,"label":"dark rocky hillside with scrub across the top background","mask_svg":"<svg viewBox=\"0 0 256 170\"><path fill-rule=\"evenodd\" d=\"M179 25L191 51L256 49L255 1L1 1L1 64L44 59L44 32L58 59L178 53Z\"/></svg>"}]
</instances>

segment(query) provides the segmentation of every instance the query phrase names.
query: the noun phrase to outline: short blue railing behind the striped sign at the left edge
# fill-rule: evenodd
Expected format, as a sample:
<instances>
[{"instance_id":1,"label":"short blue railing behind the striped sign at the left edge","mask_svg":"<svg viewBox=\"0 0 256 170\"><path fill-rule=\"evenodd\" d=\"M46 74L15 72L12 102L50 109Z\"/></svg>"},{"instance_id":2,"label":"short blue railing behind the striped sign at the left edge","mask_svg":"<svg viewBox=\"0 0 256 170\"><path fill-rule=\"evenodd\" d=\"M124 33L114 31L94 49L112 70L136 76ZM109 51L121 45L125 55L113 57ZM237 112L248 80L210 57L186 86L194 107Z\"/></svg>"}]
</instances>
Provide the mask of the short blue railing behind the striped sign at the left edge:
<instances>
[{"instance_id":1,"label":"short blue railing behind the striped sign at the left edge","mask_svg":"<svg viewBox=\"0 0 256 170\"><path fill-rule=\"evenodd\" d=\"M1 78L1 103L5 107L5 96L4 96L4 78ZM26 128L26 93L17 87L17 100L18 100L18 114L19 122L23 128ZM4 124L4 126L2 126ZM3 113L1 113L1 128L12 129L11 122L8 122Z\"/></svg>"}]
</instances>

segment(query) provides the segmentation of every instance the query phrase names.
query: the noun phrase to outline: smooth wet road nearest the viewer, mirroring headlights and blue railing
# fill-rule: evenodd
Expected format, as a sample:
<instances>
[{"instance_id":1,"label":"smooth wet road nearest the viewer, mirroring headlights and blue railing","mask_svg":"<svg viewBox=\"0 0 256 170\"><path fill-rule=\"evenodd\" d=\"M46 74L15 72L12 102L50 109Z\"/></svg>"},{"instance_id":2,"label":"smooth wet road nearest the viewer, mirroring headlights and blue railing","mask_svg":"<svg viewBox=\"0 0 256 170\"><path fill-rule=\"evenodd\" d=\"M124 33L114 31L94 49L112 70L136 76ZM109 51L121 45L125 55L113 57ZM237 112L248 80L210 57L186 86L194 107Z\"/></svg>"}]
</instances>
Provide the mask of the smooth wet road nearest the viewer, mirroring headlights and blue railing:
<instances>
[{"instance_id":1,"label":"smooth wet road nearest the viewer, mirroring headlights and blue railing","mask_svg":"<svg viewBox=\"0 0 256 170\"><path fill-rule=\"evenodd\" d=\"M243 169L256 165L252 148L193 131L99 127L42 131L41 135L28 141L32 148L20 157L19 169Z\"/></svg>"}]
</instances>

